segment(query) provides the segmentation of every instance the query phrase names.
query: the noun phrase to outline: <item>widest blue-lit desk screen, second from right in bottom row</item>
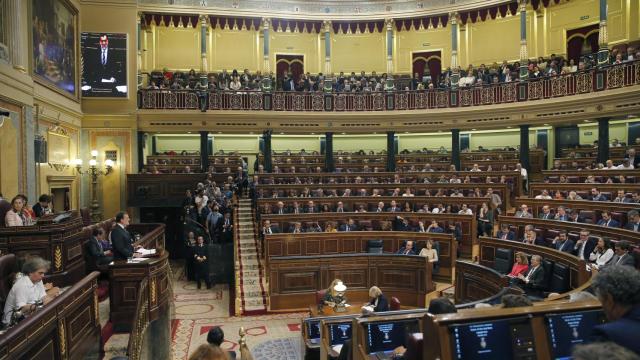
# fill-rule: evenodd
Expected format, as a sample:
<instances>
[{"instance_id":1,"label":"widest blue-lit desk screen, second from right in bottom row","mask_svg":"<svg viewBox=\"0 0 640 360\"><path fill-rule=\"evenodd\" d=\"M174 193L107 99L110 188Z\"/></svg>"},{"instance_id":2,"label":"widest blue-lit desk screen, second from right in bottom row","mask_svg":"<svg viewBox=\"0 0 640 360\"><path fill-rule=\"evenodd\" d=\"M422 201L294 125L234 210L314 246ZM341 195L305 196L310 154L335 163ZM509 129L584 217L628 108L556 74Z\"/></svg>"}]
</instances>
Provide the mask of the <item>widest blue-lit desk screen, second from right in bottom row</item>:
<instances>
[{"instance_id":1,"label":"widest blue-lit desk screen, second from right in bottom row","mask_svg":"<svg viewBox=\"0 0 640 360\"><path fill-rule=\"evenodd\" d=\"M536 359L528 317L453 324L449 331L454 359Z\"/></svg>"}]
</instances>

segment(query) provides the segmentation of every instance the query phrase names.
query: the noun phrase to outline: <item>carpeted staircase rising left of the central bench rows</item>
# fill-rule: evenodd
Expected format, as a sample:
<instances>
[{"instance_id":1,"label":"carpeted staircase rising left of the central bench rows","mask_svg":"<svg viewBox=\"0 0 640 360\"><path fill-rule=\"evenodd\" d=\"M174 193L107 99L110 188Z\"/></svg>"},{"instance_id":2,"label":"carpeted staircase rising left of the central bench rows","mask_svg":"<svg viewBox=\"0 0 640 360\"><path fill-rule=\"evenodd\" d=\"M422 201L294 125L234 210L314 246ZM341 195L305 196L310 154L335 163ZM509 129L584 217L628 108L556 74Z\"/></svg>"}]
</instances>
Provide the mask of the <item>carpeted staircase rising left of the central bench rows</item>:
<instances>
[{"instance_id":1,"label":"carpeted staircase rising left of the central bench rows","mask_svg":"<svg viewBox=\"0 0 640 360\"><path fill-rule=\"evenodd\" d=\"M239 201L235 231L238 233L236 315L264 314L267 312L267 285L250 199Z\"/></svg>"}]
</instances>

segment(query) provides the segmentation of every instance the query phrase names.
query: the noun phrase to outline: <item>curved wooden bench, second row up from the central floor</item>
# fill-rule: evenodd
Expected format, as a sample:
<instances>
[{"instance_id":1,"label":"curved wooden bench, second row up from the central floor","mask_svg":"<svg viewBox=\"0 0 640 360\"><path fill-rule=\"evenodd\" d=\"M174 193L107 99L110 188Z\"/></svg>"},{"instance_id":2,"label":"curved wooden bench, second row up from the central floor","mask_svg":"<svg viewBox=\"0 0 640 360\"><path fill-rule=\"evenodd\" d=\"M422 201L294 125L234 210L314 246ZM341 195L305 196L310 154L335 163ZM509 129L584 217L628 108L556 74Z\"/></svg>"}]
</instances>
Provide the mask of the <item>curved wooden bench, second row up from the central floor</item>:
<instances>
[{"instance_id":1,"label":"curved wooden bench, second row up from the central floor","mask_svg":"<svg viewBox=\"0 0 640 360\"><path fill-rule=\"evenodd\" d=\"M414 249L422 249L427 240L437 242L438 271L434 280L451 283L456 261L457 242L451 234L396 232L396 231L353 231L340 233L273 234L265 236L267 263L279 256L319 256L340 254L361 254L367 252L367 241L381 240L382 251L395 254L404 242L414 242ZM416 252L416 254L419 250Z\"/></svg>"}]
</instances>

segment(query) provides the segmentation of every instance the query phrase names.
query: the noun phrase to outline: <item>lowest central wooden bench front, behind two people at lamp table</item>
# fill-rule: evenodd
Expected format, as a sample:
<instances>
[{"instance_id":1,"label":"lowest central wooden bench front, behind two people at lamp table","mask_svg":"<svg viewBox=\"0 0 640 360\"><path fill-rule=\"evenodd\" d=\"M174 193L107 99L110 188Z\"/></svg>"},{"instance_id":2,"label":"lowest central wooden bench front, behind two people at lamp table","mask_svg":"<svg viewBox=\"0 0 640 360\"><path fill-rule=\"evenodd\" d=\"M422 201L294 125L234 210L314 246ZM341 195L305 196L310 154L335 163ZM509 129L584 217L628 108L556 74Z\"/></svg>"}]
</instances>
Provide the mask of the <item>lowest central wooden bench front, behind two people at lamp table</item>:
<instances>
[{"instance_id":1,"label":"lowest central wooden bench front, behind two people at lamp table","mask_svg":"<svg viewBox=\"0 0 640 360\"><path fill-rule=\"evenodd\" d=\"M316 291L333 279L347 285L350 304L364 303L378 286L406 306L424 307L433 291L432 264L422 256L343 254L273 257L269 262L270 310L307 309Z\"/></svg>"}]
</instances>

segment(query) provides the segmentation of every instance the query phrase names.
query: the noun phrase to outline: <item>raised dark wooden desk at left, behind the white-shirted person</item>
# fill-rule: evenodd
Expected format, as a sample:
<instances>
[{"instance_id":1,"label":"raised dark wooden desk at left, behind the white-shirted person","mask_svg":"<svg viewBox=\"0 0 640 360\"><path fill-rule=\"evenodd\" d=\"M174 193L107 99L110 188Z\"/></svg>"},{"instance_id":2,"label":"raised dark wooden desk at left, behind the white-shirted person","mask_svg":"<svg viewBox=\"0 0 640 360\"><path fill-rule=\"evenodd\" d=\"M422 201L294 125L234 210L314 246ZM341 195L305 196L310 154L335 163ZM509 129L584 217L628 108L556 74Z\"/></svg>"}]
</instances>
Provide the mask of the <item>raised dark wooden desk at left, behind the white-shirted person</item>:
<instances>
[{"instance_id":1,"label":"raised dark wooden desk at left, behind the white-shirted person","mask_svg":"<svg viewBox=\"0 0 640 360\"><path fill-rule=\"evenodd\" d=\"M54 218L69 215L63 222ZM77 210L44 217L32 226L0 228L0 250L17 258L37 255L51 261L47 282L56 286L71 286L85 275L82 245L82 218Z\"/></svg>"}]
</instances>

